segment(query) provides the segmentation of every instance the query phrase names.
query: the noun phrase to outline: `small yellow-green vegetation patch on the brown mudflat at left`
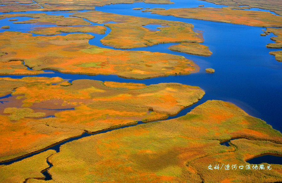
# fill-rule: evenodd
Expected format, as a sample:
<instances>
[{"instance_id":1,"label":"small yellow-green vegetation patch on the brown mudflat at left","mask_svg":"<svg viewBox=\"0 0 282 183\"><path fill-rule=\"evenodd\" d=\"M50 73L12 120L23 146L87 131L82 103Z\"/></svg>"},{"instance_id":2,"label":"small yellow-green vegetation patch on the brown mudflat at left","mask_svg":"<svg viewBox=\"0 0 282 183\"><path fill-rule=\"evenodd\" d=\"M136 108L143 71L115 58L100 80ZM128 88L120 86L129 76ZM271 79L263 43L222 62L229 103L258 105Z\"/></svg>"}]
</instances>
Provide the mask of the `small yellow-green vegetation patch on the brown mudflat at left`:
<instances>
[{"instance_id":1,"label":"small yellow-green vegetation patch on the brown mudflat at left","mask_svg":"<svg viewBox=\"0 0 282 183\"><path fill-rule=\"evenodd\" d=\"M11 121L23 119L23 118L41 118L45 116L44 112L34 112L30 108L16 108L9 107L4 109L4 114L10 114L9 118Z\"/></svg>"}]
</instances>

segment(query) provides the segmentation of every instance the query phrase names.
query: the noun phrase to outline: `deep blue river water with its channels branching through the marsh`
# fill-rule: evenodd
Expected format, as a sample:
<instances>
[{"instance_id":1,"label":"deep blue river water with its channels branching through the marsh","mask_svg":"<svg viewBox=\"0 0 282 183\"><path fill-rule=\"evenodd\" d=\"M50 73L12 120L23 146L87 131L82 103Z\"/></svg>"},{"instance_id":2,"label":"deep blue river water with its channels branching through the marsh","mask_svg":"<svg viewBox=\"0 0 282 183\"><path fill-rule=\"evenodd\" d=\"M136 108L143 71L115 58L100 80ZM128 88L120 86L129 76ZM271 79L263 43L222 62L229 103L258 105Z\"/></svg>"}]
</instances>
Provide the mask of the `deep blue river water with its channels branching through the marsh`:
<instances>
[{"instance_id":1,"label":"deep blue river water with its channels branching through the marsh","mask_svg":"<svg viewBox=\"0 0 282 183\"><path fill-rule=\"evenodd\" d=\"M174 52L168 48L171 45L177 43L168 43L168 44L158 44L150 47L143 48L134 48L127 50L142 50L142 51L152 51L152 52L162 52L169 53L173 55L185 56L185 58L193 60L200 67L200 71L191 75L178 75L178 76L167 76L167 77L158 77L145 80L133 80L133 79L124 79L118 76L109 75L79 75L79 74L65 74L57 71L49 71L39 75L34 76L46 76L46 77L61 77L70 82L77 79L92 79L99 81L118 81L118 82L133 82L133 83L144 83L146 85L158 84L162 82L177 82L186 85L200 86L206 94L204 97L197 102L196 104L187 107L180 111L175 116L170 116L168 119L177 118L185 115L187 112L190 112L191 109L196 106L206 102L207 100L223 100L227 102L232 102L238 107L242 108L249 115L261 118L270 124L274 129L282 131L282 63L279 63L275 60L274 56L269 55L269 51L274 49L266 48L266 44L273 43L270 40L270 37L274 36L270 34L268 36L260 36L263 33L261 27L251 27L245 25L235 25L227 23L217 23L209 22L204 20L194 20L186 18L176 18L173 16L162 16L157 14L151 14L149 12L143 13L138 10L133 10L133 8L193 8L198 7L198 5L205 5L205 7L223 7L221 5L215 5L212 3L207 3L204 1L189 0L183 3L180 0L172 0L175 4L146 4L146 3L134 3L134 4L114 4L106 5L103 7L96 7L97 11L103 11L108 13L118 13L122 15L132 15L138 17L146 18L156 18L172 21L181 21L194 25L195 30L203 31L203 37L205 39L204 45L208 46L209 49L213 52L210 57L196 56L196 55L187 55L185 53ZM260 10L257 8L251 8L251 10L256 11L268 11ZM79 11L85 12L86 10ZM246 10L247 11L247 10ZM269 11L268 11L269 12ZM13 12L12 12L13 13ZM70 16L73 13L58 11L58 12L39 12L39 11L30 11L30 12L16 12L16 13L47 13L52 15L63 15L65 17ZM2 13L0 13L2 14ZM13 17L18 18L18 21L29 20L32 18L27 17ZM38 24L13 24L13 22L8 21L13 18L5 18L0 20L1 25L9 25L10 31L20 31L28 32L36 27L54 27L54 25L38 25ZM84 19L85 20L85 19ZM88 20L86 20L88 21ZM89 21L88 21L89 22ZM104 24L95 24L93 25L104 25ZM107 28L107 27L106 27ZM150 27L149 27L150 28ZM151 27L154 28L155 27ZM0 32L6 30L0 29ZM95 38L89 40L89 44L96 45L102 48L115 49L110 46L103 45L100 40L103 39L110 33L110 29L107 28L106 34L93 34ZM62 33L60 35L75 34L75 33ZM38 36L33 34L34 36ZM121 50L121 49L116 49ZM281 50L281 49L275 49ZM215 69L214 74L207 74L205 72L206 68ZM51 73L49 73L51 72ZM25 76L0 76L0 77L11 77L11 78L22 78ZM0 97L0 105L3 105L5 98L11 97L11 94ZM64 110L64 109L61 109ZM54 117L54 116L47 116ZM159 120L161 121L161 120ZM119 128L127 128L139 124L144 124L138 122L136 124L123 126ZM24 158L39 154L48 149L54 149L57 152L60 151L60 146L67 142L80 139L86 136L98 134L98 133L107 133L112 130L119 128L107 129L97 133L83 133L79 137L74 137L67 139L58 144L53 144L52 146L34 152L27 156L13 159L8 162L1 163L0 165L9 165L13 162L20 161ZM228 142L227 142L228 144ZM223 144L223 145L227 145ZM229 144L228 144L229 145ZM279 163L281 164L281 157L276 158L274 156L267 155L254 158L249 160L248 163L257 163L257 162L267 162L267 163ZM274 157L274 160L270 160ZM258 161L254 161L257 159ZM269 159L269 160L268 160ZM266 161L267 160L267 161ZM268 162L269 161L269 162ZM258 163L257 163L258 164ZM44 172L44 175L47 177L46 180L50 180L50 176L47 171Z\"/></svg>"}]
</instances>

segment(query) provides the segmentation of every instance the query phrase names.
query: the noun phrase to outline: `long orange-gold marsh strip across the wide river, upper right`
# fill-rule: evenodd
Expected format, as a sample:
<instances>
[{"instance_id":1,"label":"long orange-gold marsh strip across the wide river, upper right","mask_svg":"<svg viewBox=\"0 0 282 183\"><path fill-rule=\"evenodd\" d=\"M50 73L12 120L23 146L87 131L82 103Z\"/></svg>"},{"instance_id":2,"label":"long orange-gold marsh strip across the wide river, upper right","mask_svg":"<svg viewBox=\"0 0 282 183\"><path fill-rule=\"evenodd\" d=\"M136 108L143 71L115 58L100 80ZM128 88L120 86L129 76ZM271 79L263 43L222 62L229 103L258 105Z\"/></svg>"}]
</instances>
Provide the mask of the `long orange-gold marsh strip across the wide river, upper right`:
<instances>
[{"instance_id":1,"label":"long orange-gold marsh strip across the wide river, upper right","mask_svg":"<svg viewBox=\"0 0 282 183\"><path fill-rule=\"evenodd\" d=\"M263 11L244 11L227 8L174 8L152 10L152 13L257 27L282 27L281 16Z\"/></svg>"}]
</instances>

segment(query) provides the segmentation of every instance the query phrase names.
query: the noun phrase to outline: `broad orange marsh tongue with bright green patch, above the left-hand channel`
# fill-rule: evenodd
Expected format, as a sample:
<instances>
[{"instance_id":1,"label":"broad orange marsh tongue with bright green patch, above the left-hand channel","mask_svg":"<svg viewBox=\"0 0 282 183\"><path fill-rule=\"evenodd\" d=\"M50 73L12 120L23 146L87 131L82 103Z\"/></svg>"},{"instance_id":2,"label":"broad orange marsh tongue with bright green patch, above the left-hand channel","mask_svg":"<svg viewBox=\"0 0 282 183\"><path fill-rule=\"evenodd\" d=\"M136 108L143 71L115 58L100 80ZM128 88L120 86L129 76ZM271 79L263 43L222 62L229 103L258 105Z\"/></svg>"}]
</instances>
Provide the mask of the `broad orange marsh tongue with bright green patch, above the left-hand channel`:
<instances>
[{"instance_id":1,"label":"broad orange marsh tongue with bright green patch, above the left-hand channel","mask_svg":"<svg viewBox=\"0 0 282 183\"><path fill-rule=\"evenodd\" d=\"M47 37L6 31L0 33L1 52L7 53L0 57L0 65L10 60L23 60L34 71L53 69L133 79L197 72L195 64L183 56L105 49L89 45L88 39L92 38L89 34Z\"/></svg>"}]
</instances>

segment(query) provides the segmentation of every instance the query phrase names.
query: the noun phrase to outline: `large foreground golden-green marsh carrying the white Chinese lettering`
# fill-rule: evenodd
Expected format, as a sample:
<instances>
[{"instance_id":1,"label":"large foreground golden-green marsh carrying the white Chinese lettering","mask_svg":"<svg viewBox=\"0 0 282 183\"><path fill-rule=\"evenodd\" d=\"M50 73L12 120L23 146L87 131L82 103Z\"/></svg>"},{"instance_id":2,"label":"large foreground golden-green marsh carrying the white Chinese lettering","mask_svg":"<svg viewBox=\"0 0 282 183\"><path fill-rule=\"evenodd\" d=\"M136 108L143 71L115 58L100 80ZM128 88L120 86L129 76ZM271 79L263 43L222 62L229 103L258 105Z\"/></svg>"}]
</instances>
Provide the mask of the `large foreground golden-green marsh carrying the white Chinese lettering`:
<instances>
[{"instance_id":1,"label":"large foreground golden-green marsh carrying the white Chinese lettering","mask_svg":"<svg viewBox=\"0 0 282 183\"><path fill-rule=\"evenodd\" d=\"M220 145L233 137L251 140ZM264 121L233 104L207 101L180 118L62 145L49 158L53 164L49 182L278 182L282 165L272 165L269 171L238 169L239 165L245 169L245 160L258 154L282 154L281 143L282 134ZM237 170L207 170L210 164L223 163L237 164Z\"/></svg>"}]
</instances>

